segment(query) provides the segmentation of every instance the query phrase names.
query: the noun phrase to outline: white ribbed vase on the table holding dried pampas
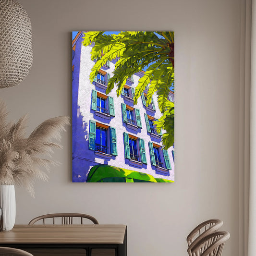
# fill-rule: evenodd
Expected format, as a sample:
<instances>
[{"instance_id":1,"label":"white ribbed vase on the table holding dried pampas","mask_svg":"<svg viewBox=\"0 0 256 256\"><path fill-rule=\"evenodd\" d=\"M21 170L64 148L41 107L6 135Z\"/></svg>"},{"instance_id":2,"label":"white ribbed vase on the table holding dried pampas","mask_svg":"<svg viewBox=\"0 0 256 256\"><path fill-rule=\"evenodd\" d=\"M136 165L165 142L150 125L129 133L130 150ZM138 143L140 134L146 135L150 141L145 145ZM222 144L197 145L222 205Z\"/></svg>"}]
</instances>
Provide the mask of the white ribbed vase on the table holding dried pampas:
<instances>
[{"instance_id":1,"label":"white ribbed vase on the table holding dried pampas","mask_svg":"<svg viewBox=\"0 0 256 256\"><path fill-rule=\"evenodd\" d=\"M14 185L0 185L1 231L12 230L16 217Z\"/></svg>"}]
</instances>

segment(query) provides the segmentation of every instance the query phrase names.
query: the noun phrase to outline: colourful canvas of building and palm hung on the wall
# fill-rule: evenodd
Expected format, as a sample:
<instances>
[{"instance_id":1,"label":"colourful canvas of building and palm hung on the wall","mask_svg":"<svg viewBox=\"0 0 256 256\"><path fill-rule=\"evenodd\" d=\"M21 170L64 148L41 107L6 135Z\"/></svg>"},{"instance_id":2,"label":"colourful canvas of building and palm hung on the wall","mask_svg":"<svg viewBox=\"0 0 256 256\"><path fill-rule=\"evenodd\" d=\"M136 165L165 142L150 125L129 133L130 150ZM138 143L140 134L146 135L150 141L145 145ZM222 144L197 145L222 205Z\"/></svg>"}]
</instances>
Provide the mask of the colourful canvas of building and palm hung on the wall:
<instances>
[{"instance_id":1,"label":"colourful canvas of building and palm hung on the wall","mask_svg":"<svg viewBox=\"0 0 256 256\"><path fill-rule=\"evenodd\" d=\"M174 32L74 31L73 182L174 182Z\"/></svg>"}]
</instances>

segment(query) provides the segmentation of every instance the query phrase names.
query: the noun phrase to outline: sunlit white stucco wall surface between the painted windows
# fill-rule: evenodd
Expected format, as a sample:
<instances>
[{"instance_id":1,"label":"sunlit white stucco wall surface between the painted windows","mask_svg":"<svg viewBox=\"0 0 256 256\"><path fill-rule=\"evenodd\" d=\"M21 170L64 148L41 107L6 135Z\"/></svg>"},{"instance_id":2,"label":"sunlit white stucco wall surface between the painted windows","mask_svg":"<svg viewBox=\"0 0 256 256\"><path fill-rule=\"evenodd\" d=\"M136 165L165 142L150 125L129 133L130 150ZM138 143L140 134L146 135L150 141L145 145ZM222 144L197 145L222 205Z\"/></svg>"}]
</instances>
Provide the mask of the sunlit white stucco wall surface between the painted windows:
<instances>
[{"instance_id":1,"label":"sunlit white stucco wall surface between the painted windows","mask_svg":"<svg viewBox=\"0 0 256 256\"><path fill-rule=\"evenodd\" d=\"M79 54L78 50L76 50L75 54ZM147 174L152 175L155 178L162 178L174 181L174 162L172 158L171 151L174 150L174 148L171 146L168 149L168 154L170 158L171 163L171 170L166 172L169 172L169 175L161 175L156 172L156 168L152 167L151 161L150 161L150 153L149 153L149 147L148 147L148 141L152 141L158 145L162 145L160 143L161 139L155 139L151 140L151 136L146 131L146 122L144 113L146 113L146 109L142 104L141 98L138 99L138 103L136 105L133 105L132 103L128 104L131 107L134 107L136 109L140 110L140 117L142 122L142 128L137 129L137 131L132 131L130 129L126 128L126 124L122 121L122 103L127 103L123 99L122 96L117 97L116 96L116 88L114 88L107 96L111 96L114 99L114 109L115 109L115 117L111 117L110 120L102 120L100 121L99 118L95 118L95 111L91 111L91 96L92 96L92 90L97 90L100 93L105 94L105 89L99 89L97 85L94 83L92 84L90 82L90 73L93 65L95 64L94 61L91 60L91 47L90 46L82 46L81 48L81 59L80 59L80 75L79 75L79 89L78 89L78 106L80 108L81 115L83 116L83 122L84 126L86 127L85 130L85 143L80 143L77 145L76 150L77 154L79 152L83 152L80 154L81 157L87 159L87 164L85 164L85 172L87 174L87 171L90 170L90 168L96 164L109 164L111 166L120 167L132 171L140 171L145 172ZM110 61L110 68L106 70L106 72L110 73L110 77L112 77L112 73L114 71L114 63ZM131 85L131 87L136 87L138 85L139 76L134 75L134 83ZM157 95L153 95L153 101L155 102L156 111L147 113L151 116L154 116L155 118L161 117L161 112L158 109L158 103L157 103ZM135 118L135 116L134 116ZM94 151L88 149L88 140L89 140L89 121L95 120L96 122L100 122L103 124L106 124L110 127L114 127L116 129L116 136L117 136L117 151L118 155L116 157L112 157L110 159L98 157ZM145 150L146 150L146 158L147 158L147 165L143 164L142 168L136 168L129 164L129 160L125 159L124 156L124 142L123 142L123 132L132 134L136 137L142 138L145 141ZM164 132L164 131L163 131ZM81 147L81 148L78 148ZM139 150L139 147L138 147ZM164 158L161 154L161 161L164 163ZM81 160L80 160L81 161ZM82 162L82 161L81 161Z\"/></svg>"}]
</instances>

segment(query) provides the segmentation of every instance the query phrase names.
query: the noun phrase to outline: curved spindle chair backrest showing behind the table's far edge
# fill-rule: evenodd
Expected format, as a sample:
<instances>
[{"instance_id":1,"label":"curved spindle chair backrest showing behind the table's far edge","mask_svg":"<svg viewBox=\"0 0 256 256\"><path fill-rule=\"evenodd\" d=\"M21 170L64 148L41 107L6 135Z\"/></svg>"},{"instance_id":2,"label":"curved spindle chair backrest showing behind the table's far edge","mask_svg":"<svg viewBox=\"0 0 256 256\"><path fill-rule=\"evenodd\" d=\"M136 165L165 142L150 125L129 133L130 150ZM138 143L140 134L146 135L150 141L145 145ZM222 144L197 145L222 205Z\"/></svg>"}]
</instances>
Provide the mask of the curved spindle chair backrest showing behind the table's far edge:
<instances>
[{"instance_id":1,"label":"curved spindle chair backrest showing behind the table's far edge","mask_svg":"<svg viewBox=\"0 0 256 256\"><path fill-rule=\"evenodd\" d=\"M73 223L73 218L80 219L79 224L84 224L83 219L90 219L94 224L98 224L98 220L95 219L93 216L83 214L83 213L51 213L46 215L38 216L32 220L29 221L28 225L32 225L36 223L38 220L43 220L43 224L61 224L61 225L71 225L71 224L77 224ZM46 223L46 219L50 219L51 223ZM60 223L58 222L58 219L61 220Z\"/></svg>"}]
</instances>

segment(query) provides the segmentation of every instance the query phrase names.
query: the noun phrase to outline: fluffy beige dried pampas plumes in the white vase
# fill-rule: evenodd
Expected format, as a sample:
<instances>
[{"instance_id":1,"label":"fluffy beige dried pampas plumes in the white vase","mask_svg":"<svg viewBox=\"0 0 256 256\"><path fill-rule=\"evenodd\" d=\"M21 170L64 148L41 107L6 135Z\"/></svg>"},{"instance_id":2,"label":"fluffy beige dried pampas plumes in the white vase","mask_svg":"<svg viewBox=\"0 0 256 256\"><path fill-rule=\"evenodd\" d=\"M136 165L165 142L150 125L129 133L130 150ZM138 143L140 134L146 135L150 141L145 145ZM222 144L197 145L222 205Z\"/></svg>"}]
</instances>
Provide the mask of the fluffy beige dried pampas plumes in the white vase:
<instances>
[{"instance_id":1,"label":"fluffy beige dried pampas plumes in the white vase","mask_svg":"<svg viewBox=\"0 0 256 256\"><path fill-rule=\"evenodd\" d=\"M51 156L53 148L62 148L51 139L61 139L61 131L65 131L69 117L50 118L26 138L27 117L16 123L8 122L7 114L6 105L0 102L0 184L22 185L34 196L35 180L47 181L49 178L41 168L49 171L50 164L58 164L42 156Z\"/></svg>"}]
</instances>

